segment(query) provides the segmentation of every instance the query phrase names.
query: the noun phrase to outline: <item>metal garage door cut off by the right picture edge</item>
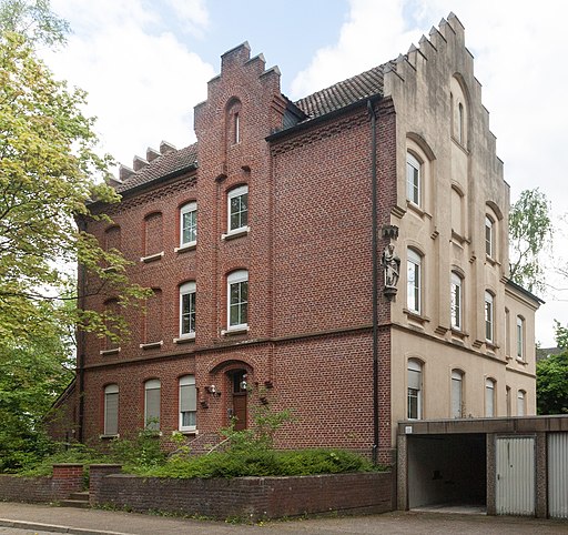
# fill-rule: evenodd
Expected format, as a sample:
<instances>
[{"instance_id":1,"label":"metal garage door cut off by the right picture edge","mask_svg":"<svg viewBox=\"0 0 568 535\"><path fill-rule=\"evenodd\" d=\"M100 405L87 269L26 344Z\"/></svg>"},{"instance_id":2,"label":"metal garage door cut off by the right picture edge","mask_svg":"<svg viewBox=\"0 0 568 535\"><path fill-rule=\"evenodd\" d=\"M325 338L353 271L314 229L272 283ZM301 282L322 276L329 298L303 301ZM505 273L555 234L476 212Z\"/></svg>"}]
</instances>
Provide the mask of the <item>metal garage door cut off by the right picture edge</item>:
<instances>
[{"instance_id":1,"label":"metal garage door cut off by the right picture edge","mask_svg":"<svg viewBox=\"0 0 568 535\"><path fill-rule=\"evenodd\" d=\"M548 434L548 515L568 518L568 433Z\"/></svg>"}]
</instances>

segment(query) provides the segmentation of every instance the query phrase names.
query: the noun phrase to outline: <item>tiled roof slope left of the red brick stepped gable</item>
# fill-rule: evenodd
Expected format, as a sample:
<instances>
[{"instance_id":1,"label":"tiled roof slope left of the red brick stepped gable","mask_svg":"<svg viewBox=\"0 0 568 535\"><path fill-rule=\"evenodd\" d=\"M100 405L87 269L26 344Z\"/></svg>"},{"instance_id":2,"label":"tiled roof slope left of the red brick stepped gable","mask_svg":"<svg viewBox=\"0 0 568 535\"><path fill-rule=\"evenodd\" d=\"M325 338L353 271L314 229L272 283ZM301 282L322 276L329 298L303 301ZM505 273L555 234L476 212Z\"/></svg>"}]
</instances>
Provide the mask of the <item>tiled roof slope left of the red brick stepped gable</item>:
<instances>
[{"instance_id":1,"label":"tiled roof slope left of the red brick stepped gable","mask_svg":"<svg viewBox=\"0 0 568 535\"><path fill-rule=\"evenodd\" d=\"M154 180L165 178L184 169L196 166L197 143L193 143L180 150L171 150L154 158L135 173L131 174L123 183L116 186L118 193L125 193L134 188L148 184Z\"/></svg>"}]
</instances>

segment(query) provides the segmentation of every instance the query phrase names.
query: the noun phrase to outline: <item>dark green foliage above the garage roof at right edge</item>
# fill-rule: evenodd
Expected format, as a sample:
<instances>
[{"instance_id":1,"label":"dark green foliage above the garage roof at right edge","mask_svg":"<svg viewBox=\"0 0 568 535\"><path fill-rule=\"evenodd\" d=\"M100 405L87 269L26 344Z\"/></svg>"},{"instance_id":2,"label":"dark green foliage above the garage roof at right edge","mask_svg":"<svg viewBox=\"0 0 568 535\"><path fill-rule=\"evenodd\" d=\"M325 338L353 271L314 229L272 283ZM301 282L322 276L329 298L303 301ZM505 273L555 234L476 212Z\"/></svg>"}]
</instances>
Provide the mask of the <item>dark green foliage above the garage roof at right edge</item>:
<instances>
[{"instance_id":1,"label":"dark green foliage above the garage roof at right edge","mask_svg":"<svg viewBox=\"0 0 568 535\"><path fill-rule=\"evenodd\" d=\"M537 362L538 414L568 414L568 350Z\"/></svg>"}]
</instances>

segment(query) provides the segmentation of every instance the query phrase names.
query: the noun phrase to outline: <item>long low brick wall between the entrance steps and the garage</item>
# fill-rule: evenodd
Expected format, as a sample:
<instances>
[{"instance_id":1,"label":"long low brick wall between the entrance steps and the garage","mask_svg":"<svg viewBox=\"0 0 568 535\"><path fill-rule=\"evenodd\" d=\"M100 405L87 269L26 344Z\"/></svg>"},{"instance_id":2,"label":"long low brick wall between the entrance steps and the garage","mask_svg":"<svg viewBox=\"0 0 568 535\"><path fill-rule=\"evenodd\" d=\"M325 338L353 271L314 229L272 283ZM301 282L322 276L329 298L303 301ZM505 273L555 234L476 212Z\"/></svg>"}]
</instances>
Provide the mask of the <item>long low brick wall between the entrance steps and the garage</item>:
<instances>
[{"instance_id":1,"label":"long low brick wall between the entrance steps and the garage","mask_svg":"<svg viewBox=\"0 0 568 535\"><path fill-rule=\"evenodd\" d=\"M172 480L113 474L91 488L91 504L253 521L329 512L385 513L393 511L393 476L384 472Z\"/></svg>"}]
</instances>

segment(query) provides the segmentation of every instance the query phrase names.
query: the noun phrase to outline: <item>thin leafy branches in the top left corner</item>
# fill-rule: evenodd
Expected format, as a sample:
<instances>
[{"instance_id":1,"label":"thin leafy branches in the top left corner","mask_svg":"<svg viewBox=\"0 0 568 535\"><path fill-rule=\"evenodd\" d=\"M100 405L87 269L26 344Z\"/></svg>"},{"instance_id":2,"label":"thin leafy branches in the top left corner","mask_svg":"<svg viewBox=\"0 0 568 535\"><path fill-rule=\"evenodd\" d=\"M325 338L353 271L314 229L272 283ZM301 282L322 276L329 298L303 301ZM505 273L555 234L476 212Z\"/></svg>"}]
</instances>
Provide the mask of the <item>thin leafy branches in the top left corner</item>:
<instances>
[{"instance_id":1,"label":"thin leafy branches in the top left corner","mask_svg":"<svg viewBox=\"0 0 568 535\"><path fill-rule=\"evenodd\" d=\"M50 0L2 0L0 28L24 36L32 46L64 44L69 22L51 11Z\"/></svg>"}]
</instances>

